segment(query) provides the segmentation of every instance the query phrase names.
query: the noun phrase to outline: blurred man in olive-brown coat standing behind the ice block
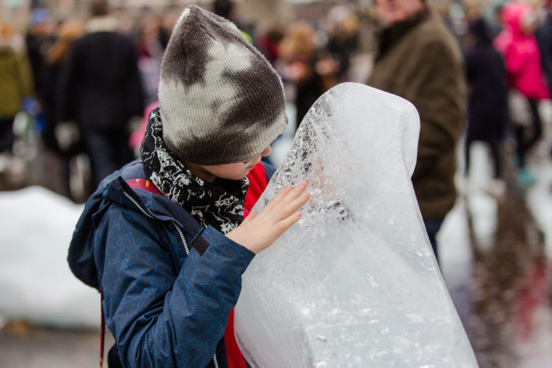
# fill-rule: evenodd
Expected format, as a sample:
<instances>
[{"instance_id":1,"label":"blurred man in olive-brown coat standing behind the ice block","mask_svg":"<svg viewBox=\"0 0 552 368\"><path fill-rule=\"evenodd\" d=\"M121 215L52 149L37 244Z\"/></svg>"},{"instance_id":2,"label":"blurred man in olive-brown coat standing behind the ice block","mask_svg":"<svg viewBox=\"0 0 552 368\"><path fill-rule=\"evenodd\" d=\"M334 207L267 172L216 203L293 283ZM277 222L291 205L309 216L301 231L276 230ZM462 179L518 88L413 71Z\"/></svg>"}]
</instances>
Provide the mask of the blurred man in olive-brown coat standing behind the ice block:
<instances>
[{"instance_id":1,"label":"blurred man in olive-brown coat standing behind the ice block","mask_svg":"<svg viewBox=\"0 0 552 368\"><path fill-rule=\"evenodd\" d=\"M411 101L420 113L412 183L435 257L435 237L456 200L455 145L466 80L454 36L422 0L376 0L383 28L367 84Z\"/></svg>"}]
</instances>

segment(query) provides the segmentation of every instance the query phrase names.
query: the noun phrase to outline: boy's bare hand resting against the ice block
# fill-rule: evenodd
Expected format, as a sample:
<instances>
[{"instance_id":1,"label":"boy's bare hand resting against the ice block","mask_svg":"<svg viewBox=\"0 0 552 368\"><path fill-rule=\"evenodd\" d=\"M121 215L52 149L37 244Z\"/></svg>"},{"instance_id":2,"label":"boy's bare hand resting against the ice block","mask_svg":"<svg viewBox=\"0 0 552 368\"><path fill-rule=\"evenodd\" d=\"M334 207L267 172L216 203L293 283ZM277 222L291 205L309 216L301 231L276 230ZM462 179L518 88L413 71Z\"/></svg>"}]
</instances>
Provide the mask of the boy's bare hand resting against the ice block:
<instances>
[{"instance_id":1,"label":"boy's bare hand resting against the ice block","mask_svg":"<svg viewBox=\"0 0 552 368\"><path fill-rule=\"evenodd\" d=\"M286 185L258 215L251 211L244 222L226 236L255 254L268 248L301 218L297 210L311 197L311 193L304 192L305 188L304 180L293 189Z\"/></svg>"}]
</instances>

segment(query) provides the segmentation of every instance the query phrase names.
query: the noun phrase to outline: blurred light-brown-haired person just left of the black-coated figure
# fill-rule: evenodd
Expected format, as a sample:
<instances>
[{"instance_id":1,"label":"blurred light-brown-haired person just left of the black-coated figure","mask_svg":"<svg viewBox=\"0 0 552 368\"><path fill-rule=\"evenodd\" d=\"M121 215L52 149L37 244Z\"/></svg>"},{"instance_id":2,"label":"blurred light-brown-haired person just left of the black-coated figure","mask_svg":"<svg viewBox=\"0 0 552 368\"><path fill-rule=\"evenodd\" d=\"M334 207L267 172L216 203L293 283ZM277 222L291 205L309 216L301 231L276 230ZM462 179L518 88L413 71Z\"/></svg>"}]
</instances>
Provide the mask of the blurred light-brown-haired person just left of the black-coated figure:
<instances>
[{"instance_id":1,"label":"blurred light-brown-haired person just left of the black-coated figure","mask_svg":"<svg viewBox=\"0 0 552 368\"><path fill-rule=\"evenodd\" d=\"M61 70L65 66L72 43L81 37L84 25L81 21L63 21L57 30L57 38L46 54L43 66L44 115L46 128L44 131L46 147L52 149L61 159L62 194L75 198L70 187L70 160L83 151L82 137L76 124L59 124L61 117L56 109L59 106Z\"/></svg>"}]
</instances>

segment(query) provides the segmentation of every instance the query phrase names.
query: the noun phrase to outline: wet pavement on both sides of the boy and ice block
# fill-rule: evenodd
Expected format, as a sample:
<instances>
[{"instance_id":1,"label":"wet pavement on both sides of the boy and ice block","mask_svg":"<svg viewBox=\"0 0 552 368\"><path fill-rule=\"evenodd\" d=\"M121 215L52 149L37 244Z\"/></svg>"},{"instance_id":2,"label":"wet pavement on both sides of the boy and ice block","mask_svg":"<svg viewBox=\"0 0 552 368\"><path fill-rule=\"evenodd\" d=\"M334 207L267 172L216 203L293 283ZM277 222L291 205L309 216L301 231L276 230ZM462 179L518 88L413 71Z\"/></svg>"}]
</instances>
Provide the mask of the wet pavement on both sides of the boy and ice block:
<instances>
[{"instance_id":1,"label":"wet pavement on both sides of the boy and ice block","mask_svg":"<svg viewBox=\"0 0 552 368\"><path fill-rule=\"evenodd\" d=\"M533 162L528 191L506 162L506 194L496 198L484 191L485 155L473 154L474 178L438 235L442 272L480 367L552 367L552 159ZM0 190L28 184L37 181L0 177ZM0 367L97 367L98 358L99 331L0 329Z\"/></svg>"}]
</instances>

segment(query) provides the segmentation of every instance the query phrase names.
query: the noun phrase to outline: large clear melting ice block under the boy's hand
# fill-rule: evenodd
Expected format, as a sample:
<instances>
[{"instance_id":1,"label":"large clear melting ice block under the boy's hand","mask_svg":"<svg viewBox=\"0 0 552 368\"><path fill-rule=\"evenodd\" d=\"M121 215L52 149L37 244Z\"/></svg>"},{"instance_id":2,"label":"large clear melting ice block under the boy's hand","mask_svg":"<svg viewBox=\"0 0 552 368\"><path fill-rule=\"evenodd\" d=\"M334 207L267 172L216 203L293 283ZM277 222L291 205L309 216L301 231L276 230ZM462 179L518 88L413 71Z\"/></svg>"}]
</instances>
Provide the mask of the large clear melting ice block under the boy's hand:
<instances>
[{"instance_id":1,"label":"large clear melting ice block under the boy's hand","mask_svg":"<svg viewBox=\"0 0 552 368\"><path fill-rule=\"evenodd\" d=\"M477 367L411 183L408 101L339 84L313 105L256 211L308 180L302 219L243 278L235 333L254 367Z\"/></svg>"}]
</instances>

